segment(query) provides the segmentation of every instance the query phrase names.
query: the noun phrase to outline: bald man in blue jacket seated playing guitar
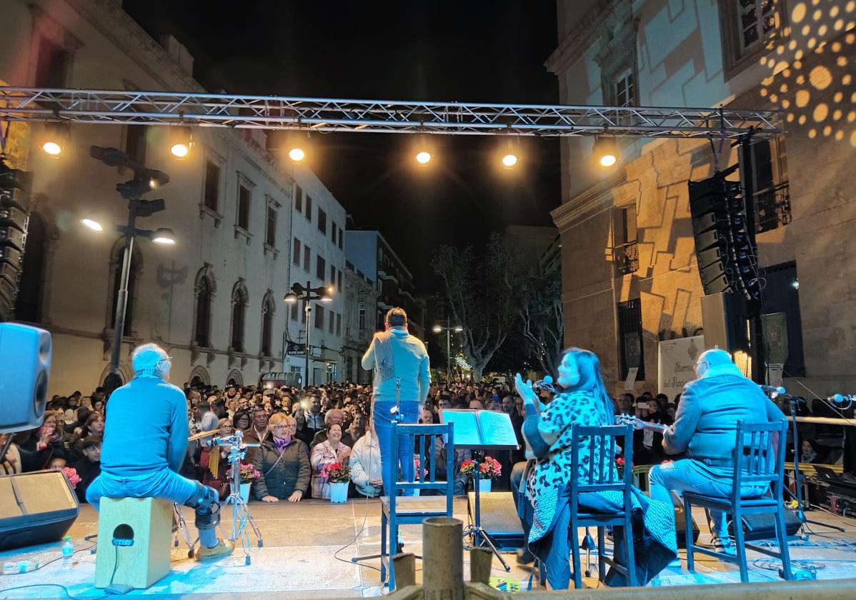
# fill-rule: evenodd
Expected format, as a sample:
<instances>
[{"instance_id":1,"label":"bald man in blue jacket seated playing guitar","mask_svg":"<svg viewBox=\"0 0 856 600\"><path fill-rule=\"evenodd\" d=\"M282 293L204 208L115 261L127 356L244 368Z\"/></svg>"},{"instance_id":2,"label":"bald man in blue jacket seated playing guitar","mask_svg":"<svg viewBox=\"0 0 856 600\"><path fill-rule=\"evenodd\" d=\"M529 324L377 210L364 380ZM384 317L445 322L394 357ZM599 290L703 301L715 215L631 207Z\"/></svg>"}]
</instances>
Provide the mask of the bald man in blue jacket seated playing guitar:
<instances>
[{"instance_id":1,"label":"bald man in blue jacket seated playing guitar","mask_svg":"<svg viewBox=\"0 0 856 600\"><path fill-rule=\"evenodd\" d=\"M728 498L734 476L734 435L737 421L764 423L784 420L782 411L764 395L724 350L707 350L698 357L694 381L687 383L675 414L675 423L663 431L666 454L686 453L687 458L651 468L651 498L672 502L670 492L692 491ZM764 496L767 486L747 486L740 496ZM734 555L725 514L708 514L711 545L717 552Z\"/></svg>"}]
</instances>

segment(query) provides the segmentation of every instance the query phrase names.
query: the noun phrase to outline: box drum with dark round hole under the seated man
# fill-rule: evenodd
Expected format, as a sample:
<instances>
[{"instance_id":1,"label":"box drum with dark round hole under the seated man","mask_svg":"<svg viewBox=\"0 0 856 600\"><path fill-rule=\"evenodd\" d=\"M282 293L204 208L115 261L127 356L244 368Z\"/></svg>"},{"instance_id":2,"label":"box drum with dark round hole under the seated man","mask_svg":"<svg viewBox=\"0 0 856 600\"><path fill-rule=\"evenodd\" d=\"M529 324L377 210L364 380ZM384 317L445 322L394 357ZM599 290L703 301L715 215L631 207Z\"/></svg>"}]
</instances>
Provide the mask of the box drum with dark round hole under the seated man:
<instances>
[{"instance_id":1,"label":"box drum with dark round hole under the seated man","mask_svg":"<svg viewBox=\"0 0 856 600\"><path fill-rule=\"evenodd\" d=\"M142 590L169 575L172 516L172 502L160 498L102 498L95 587Z\"/></svg>"}]
</instances>

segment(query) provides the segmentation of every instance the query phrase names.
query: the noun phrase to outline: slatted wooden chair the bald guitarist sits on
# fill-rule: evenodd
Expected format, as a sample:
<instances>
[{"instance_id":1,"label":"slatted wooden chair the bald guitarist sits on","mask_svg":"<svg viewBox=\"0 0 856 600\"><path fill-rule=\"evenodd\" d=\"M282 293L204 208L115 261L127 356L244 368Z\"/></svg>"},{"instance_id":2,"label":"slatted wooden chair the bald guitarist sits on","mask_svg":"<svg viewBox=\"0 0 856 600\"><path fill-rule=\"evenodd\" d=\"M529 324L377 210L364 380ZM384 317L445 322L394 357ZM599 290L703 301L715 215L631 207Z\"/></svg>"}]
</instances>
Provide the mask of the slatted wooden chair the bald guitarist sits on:
<instances>
[{"instance_id":1,"label":"slatted wooden chair the bald guitarist sits on","mask_svg":"<svg viewBox=\"0 0 856 600\"><path fill-rule=\"evenodd\" d=\"M782 503L785 468L785 436L788 432L787 421L776 423L737 422L737 435L734 442L734 478L731 496L727 499L702 496L684 492L684 514L687 519L687 569L693 572L695 567L693 552L716 556L722 561L736 562L740 566L740 581L749 580L746 566L746 548L773 556L782 561L784 579L794 579L791 573L791 558L788 553L788 536L785 533L785 509ZM746 485L772 485L772 494L762 498L740 498L740 490ZM731 513L734 522L734 541L736 555L731 556L693 544L691 508L713 508ZM746 544L743 538L744 514L775 514L776 539L779 551Z\"/></svg>"}]
</instances>

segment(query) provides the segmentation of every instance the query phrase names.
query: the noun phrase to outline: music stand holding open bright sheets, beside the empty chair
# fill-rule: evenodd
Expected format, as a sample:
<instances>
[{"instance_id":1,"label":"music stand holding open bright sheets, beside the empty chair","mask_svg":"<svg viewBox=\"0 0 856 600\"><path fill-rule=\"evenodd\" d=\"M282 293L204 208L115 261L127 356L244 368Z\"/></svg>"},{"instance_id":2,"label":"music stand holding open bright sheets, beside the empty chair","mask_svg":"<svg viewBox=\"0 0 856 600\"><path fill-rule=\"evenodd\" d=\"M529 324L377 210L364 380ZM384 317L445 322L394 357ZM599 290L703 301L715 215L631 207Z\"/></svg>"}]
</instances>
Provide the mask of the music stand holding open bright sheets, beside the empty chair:
<instances>
[{"instance_id":1,"label":"music stand holding open bright sheets, beside the empty chair","mask_svg":"<svg viewBox=\"0 0 856 600\"><path fill-rule=\"evenodd\" d=\"M484 417L482 416L484 414ZM502 416L500 416L502 415ZM503 418L504 417L504 418ZM506 413L496 411L473 411L445 409L440 411L440 421L455 423L455 447L456 449L467 449L473 452L474 479L473 491L475 492L475 510L473 511L473 525L464 530L464 537L473 536L473 546L479 547L484 541L490 551L502 563L506 572L511 571L508 562L502 558L496 544L490 538L490 533L481 526L481 494L479 492L479 465L484 460L484 452L487 450L511 450L520 448L517 443L517 435L514 433L514 425ZM460 437L459 437L460 436ZM513 440L513 442L512 442ZM454 477L454 474L449 475Z\"/></svg>"}]
</instances>

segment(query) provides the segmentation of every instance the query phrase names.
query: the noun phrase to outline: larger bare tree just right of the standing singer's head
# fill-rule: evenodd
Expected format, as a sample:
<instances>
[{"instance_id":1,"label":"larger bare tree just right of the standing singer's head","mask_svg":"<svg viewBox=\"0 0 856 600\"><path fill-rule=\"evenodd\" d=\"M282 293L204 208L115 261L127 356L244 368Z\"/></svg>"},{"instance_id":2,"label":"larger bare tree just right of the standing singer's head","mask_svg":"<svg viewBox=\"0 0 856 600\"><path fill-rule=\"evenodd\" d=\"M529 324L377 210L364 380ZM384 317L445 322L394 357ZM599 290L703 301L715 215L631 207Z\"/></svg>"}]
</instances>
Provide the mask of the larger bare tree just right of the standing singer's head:
<instances>
[{"instance_id":1,"label":"larger bare tree just right of the standing singer's head","mask_svg":"<svg viewBox=\"0 0 856 600\"><path fill-rule=\"evenodd\" d=\"M443 245L431 266L446 284L449 316L463 328L464 355L473 366L473 379L481 381L490 357L514 328L520 263L506 241L493 233L483 256L472 245L463 250Z\"/></svg>"}]
</instances>

